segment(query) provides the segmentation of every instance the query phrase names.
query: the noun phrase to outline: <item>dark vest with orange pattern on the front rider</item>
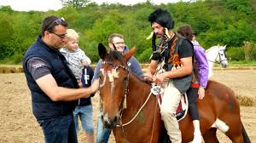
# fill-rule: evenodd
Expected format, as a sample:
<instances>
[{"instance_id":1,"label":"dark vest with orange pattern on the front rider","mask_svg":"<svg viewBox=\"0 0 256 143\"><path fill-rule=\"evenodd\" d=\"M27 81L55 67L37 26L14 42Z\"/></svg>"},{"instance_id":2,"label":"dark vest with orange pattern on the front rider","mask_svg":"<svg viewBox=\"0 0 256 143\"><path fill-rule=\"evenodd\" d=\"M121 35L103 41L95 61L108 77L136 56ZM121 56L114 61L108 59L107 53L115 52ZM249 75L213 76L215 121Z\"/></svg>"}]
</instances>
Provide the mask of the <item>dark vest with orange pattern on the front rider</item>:
<instances>
[{"instance_id":1,"label":"dark vest with orange pattern on the front rider","mask_svg":"<svg viewBox=\"0 0 256 143\"><path fill-rule=\"evenodd\" d=\"M173 66L181 66L178 50L184 40L187 39L175 36L167 43L168 49L166 49L165 52L162 53L162 56L165 57L165 65L163 68L166 71L171 71ZM187 41L189 42L189 40ZM191 49L194 50L193 44L191 42L189 43L191 44ZM172 81L173 85L179 90L179 92L181 94L184 94L190 87L192 81L192 74L185 77L172 78L170 80Z\"/></svg>"}]
</instances>

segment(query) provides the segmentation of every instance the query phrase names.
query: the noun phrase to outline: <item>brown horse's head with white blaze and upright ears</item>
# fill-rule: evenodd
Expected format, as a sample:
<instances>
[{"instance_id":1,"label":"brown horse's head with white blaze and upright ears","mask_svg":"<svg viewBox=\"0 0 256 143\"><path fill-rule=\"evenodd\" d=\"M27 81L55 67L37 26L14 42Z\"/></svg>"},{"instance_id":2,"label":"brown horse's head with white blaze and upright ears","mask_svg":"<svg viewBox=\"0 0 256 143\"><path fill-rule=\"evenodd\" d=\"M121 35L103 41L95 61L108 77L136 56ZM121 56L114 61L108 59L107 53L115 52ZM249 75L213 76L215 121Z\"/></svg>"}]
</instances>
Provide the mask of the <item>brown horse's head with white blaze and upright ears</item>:
<instances>
[{"instance_id":1,"label":"brown horse's head with white blaze and upright ears","mask_svg":"<svg viewBox=\"0 0 256 143\"><path fill-rule=\"evenodd\" d=\"M119 117L125 108L128 94L129 67L127 61L135 53L135 48L126 54L110 50L102 43L98 46L102 58L100 73L100 97L102 101L102 122L105 127L113 128L119 123Z\"/></svg>"}]
</instances>

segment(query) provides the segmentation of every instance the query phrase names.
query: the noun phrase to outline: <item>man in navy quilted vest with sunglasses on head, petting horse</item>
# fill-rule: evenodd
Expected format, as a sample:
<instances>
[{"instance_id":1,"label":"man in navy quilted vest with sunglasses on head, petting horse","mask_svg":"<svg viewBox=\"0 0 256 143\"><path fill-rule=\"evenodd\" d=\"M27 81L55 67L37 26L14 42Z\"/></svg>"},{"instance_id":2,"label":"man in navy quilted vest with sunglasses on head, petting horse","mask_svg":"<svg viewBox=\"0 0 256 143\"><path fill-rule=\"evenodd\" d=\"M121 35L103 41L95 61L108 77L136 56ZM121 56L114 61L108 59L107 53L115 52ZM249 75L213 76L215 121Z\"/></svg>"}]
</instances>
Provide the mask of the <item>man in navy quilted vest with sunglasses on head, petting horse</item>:
<instances>
[{"instance_id":1,"label":"man in navy quilted vest with sunglasses on head, petting horse","mask_svg":"<svg viewBox=\"0 0 256 143\"><path fill-rule=\"evenodd\" d=\"M56 16L42 22L41 35L23 59L26 81L32 93L32 112L44 130L45 142L78 142L73 109L80 98L96 92L99 85L79 88L59 51L66 40L67 22Z\"/></svg>"}]
</instances>

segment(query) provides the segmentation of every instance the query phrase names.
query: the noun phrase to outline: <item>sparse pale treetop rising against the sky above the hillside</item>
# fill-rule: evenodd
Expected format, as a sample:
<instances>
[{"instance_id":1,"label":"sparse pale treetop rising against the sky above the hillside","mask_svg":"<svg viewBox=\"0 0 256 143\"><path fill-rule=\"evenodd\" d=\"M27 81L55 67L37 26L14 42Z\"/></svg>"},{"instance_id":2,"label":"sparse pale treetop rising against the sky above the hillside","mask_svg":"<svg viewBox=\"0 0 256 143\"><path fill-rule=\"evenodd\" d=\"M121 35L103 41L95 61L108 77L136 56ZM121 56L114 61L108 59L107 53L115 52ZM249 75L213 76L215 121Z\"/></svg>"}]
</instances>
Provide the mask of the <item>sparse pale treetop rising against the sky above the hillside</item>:
<instances>
[{"instance_id":1,"label":"sparse pale treetop rising against the sky above the hillside","mask_svg":"<svg viewBox=\"0 0 256 143\"><path fill-rule=\"evenodd\" d=\"M90 0L61 0L63 6L71 6L74 9L79 9L85 7Z\"/></svg>"}]
</instances>

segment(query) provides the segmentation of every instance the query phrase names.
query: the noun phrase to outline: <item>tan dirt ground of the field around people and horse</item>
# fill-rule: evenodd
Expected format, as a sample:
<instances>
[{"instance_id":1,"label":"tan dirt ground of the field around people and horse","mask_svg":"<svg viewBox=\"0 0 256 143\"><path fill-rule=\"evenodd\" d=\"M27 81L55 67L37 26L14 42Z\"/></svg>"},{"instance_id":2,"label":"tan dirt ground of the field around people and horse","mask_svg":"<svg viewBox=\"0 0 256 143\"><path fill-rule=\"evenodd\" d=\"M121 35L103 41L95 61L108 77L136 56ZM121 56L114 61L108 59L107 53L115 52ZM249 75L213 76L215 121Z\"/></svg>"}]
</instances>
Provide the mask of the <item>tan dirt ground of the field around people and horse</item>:
<instances>
[{"instance_id":1,"label":"tan dirt ground of the field around people and horse","mask_svg":"<svg viewBox=\"0 0 256 143\"><path fill-rule=\"evenodd\" d=\"M256 71L215 71L212 77L240 96L256 98ZM44 134L32 115L31 94L23 73L0 74L0 143L44 142ZM98 97L93 98L94 124ZM241 120L252 142L256 142L256 106L241 106ZM79 132L79 142L86 138ZM231 142L218 133L220 142ZM114 142L113 135L109 142Z\"/></svg>"}]
</instances>

